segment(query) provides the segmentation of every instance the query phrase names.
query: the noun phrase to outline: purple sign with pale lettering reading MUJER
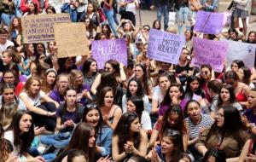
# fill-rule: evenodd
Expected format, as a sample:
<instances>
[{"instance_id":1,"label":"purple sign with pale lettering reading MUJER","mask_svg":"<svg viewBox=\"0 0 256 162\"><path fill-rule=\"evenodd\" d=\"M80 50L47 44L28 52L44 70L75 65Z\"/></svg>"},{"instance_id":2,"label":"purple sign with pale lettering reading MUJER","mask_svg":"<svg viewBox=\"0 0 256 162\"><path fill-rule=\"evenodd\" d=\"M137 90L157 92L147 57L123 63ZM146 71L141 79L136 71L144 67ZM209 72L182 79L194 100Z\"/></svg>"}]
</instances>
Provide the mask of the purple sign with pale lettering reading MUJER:
<instances>
[{"instance_id":1,"label":"purple sign with pale lettering reading MUJER","mask_svg":"<svg viewBox=\"0 0 256 162\"><path fill-rule=\"evenodd\" d=\"M97 40L91 44L92 57L97 61L99 69L105 62L115 60L127 65L127 48L125 39Z\"/></svg>"}]
</instances>

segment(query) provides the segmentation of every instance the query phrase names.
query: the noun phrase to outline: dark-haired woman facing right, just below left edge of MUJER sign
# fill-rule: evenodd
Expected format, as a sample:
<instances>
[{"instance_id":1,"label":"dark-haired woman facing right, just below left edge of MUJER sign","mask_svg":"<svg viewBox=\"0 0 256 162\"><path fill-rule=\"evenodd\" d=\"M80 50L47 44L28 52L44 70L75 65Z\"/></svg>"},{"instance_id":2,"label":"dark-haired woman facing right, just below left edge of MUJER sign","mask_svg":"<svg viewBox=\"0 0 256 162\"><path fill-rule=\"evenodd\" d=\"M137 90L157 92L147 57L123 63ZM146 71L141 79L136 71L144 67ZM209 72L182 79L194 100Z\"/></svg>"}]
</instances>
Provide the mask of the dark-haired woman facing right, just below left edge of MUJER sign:
<instances>
[{"instance_id":1,"label":"dark-haired woman facing right, just below left edge of MUJER sign","mask_svg":"<svg viewBox=\"0 0 256 162\"><path fill-rule=\"evenodd\" d=\"M84 67L82 69L84 75L84 83L91 85L94 83L96 76L98 75L97 72L97 62L93 58L89 58L84 61Z\"/></svg>"}]
</instances>

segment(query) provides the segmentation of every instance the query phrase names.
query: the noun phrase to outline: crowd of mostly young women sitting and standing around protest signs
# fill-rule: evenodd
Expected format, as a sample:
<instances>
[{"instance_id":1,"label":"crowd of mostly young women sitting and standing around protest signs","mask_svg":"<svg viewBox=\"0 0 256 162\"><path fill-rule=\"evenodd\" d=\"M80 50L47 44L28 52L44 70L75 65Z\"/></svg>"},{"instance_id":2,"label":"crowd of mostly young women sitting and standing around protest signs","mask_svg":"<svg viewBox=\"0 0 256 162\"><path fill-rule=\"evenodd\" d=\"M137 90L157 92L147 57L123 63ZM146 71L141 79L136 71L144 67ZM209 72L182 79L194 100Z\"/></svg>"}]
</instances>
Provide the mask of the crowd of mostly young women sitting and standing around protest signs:
<instances>
[{"instance_id":1,"label":"crowd of mostly young women sitting and standing around protest signs","mask_svg":"<svg viewBox=\"0 0 256 162\"><path fill-rule=\"evenodd\" d=\"M218 35L193 31L196 12L218 12L218 0L148 2L0 2L0 162L256 162L255 67L191 63L194 37L256 44L250 0L230 3L230 29ZM143 5L157 8L157 20L136 26ZM23 43L22 16L58 13L84 22L90 49L124 38L127 66L109 60L99 69L92 51L58 58L55 42ZM151 29L185 36L177 65L148 58Z\"/></svg>"}]
</instances>

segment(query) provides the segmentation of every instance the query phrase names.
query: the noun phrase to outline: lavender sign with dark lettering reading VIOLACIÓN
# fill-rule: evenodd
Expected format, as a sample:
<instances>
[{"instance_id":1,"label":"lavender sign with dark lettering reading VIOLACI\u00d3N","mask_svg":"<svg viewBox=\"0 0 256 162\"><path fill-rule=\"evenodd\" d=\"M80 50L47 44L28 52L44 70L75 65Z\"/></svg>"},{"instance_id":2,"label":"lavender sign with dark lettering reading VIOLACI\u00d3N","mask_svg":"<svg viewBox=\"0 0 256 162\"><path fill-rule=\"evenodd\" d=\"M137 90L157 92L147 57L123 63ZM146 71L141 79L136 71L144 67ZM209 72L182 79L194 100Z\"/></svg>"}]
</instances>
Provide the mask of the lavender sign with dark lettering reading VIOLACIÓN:
<instances>
[{"instance_id":1,"label":"lavender sign with dark lettering reading VIOLACI\u00d3N","mask_svg":"<svg viewBox=\"0 0 256 162\"><path fill-rule=\"evenodd\" d=\"M148 38L148 57L156 61L177 64L185 44L182 35L151 29Z\"/></svg>"}]
</instances>

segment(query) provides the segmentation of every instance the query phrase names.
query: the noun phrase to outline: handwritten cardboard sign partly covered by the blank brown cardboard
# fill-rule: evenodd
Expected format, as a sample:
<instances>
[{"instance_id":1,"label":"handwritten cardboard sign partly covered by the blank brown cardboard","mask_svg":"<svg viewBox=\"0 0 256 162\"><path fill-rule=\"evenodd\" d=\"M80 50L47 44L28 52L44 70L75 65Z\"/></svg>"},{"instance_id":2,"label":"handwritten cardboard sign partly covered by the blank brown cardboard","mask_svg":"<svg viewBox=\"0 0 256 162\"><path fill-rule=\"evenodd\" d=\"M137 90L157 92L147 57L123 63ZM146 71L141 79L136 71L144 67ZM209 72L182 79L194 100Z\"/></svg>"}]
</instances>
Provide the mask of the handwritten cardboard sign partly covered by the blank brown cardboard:
<instances>
[{"instance_id":1,"label":"handwritten cardboard sign partly covered by the blank brown cardboard","mask_svg":"<svg viewBox=\"0 0 256 162\"><path fill-rule=\"evenodd\" d=\"M37 14L21 18L24 43L55 41L53 24L71 22L69 14Z\"/></svg>"}]
</instances>

